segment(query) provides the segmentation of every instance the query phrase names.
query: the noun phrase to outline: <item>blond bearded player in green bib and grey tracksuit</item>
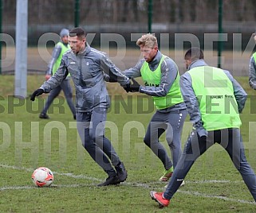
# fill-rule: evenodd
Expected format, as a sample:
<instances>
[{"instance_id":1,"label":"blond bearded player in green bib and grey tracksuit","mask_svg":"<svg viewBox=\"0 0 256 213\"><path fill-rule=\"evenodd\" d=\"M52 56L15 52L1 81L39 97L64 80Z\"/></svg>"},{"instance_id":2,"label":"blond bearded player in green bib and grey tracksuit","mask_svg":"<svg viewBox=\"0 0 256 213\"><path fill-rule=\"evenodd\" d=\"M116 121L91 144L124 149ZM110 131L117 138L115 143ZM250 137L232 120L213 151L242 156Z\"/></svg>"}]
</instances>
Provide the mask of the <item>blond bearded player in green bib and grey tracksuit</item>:
<instances>
[{"instance_id":1,"label":"blond bearded player in green bib and grey tracksuit","mask_svg":"<svg viewBox=\"0 0 256 213\"><path fill-rule=\"evenodd\" d=\"M160 158L164 166L160 181L167 181L181 154L180 137L187 116L186 106L179 88L179 71L171 58L164 56L158 49L156 37L146 34L136 42L144 58L135 67L124 71L130 79L141 77L144 86L136 81L126 91L138 91L152 96L156 106L144 143ZM166 131L166 140L171 149L171 158L160 143L159 138Z\"/></svg>"}]
</instances>

